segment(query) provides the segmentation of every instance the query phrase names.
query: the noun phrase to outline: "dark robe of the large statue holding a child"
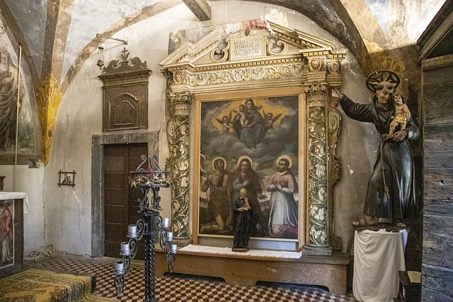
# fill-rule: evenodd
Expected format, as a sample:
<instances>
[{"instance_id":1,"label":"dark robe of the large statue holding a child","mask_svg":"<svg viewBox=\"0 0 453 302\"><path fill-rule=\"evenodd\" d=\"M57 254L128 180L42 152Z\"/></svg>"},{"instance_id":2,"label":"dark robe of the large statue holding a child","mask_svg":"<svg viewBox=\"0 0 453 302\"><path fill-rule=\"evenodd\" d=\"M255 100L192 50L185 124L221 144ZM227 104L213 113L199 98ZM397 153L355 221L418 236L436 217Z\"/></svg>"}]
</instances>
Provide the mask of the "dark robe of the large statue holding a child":
<instances>
[{"instance_id":1,"label":"dark robe of the large statue holding a child","mask_svg":"<svg viewBox=\"0 0 453 302\"><path fill-rule=\"evenodd\" d=\"M340 105L345 114L353 120L372 122L379 134L389 134L391 117L395 115L394 106L385 110L379 108L376 98L372 104L357 104L346 95L340 100ZM395 132L399 131L399 127L396 127ZM418 127L412 117L406 124L406 131L408 135L403 141L395 142L393 139L388 139L383 142L381 140L377 161L368 182L364 214L389 219L415 216L415 179L408 139L418 137ZM382 163L384 163L385 183L389 189L389 197L384 191Z\"/></svg>"}]
</instances>

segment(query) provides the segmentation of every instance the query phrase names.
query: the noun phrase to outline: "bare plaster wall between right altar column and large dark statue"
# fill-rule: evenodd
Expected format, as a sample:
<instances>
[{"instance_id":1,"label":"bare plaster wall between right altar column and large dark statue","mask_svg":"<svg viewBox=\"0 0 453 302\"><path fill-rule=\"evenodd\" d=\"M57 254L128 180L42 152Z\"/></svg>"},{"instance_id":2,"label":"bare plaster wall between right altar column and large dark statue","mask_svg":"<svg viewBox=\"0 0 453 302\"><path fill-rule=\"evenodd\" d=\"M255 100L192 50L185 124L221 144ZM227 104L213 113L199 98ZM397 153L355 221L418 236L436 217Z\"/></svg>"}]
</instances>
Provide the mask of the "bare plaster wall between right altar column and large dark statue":
<instances>
[{"instance_id":1,"label":"bare plaster wall between right altar column and large dark statue","mask_svg":"<svg viewBox=\"0 0 453 302\"><path fill-rule=\"evenodd\" d=\"M371 103L373 95L365 87L366 79L349 52L341 72L341 93L356 103ZM336 153L340 156L341 170L340 180L334 187L334 233L341 237L342 252L349 252L354 243L352 221L359 218L365 207L368 180L379 148L379 133L374 124L352 120L339 105L338 108L342 120Z\"/></svg>"}]
</instances>

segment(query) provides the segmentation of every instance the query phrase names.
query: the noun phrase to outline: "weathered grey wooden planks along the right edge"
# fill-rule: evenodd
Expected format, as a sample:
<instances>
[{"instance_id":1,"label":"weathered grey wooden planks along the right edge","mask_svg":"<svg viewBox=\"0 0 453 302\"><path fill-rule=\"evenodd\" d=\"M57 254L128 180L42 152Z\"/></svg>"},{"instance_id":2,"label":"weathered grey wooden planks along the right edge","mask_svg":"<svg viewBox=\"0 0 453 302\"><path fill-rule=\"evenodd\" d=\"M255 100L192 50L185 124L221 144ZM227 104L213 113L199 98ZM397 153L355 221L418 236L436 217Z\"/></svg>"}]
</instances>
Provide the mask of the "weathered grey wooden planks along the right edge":
<instances>
[{"instance_id":1,"label":"weathered grey wooden planks along the right edge","mask_svg":"<svg viewBox=\"0 0 453 302\"><path fill-rule=\"evenodd\" d=\"M422 298L452 301L453 63L433 62L423 70Z\"/></svg>"}]
</instances>

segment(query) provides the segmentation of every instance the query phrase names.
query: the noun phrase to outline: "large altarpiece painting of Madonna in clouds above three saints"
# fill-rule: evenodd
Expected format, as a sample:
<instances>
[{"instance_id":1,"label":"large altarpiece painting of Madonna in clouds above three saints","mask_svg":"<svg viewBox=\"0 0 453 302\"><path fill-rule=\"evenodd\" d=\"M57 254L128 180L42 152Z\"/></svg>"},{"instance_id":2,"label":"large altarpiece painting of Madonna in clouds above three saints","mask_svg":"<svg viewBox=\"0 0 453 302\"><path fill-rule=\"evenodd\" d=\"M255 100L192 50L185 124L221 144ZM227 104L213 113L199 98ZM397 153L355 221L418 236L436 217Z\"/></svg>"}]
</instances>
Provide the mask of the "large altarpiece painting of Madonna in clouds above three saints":
<instances>
[{"instance_id":1,"label":"large altarpiece painting of Madonna in clouds above three saints","mask_svg":"<svg viewBox=\"0 0 453 302\"><path fill-rule=\"evenodd\" d=\"M200 236L233 235L232 204L245 187L251 236L296 239L299 95L207 101L200 108Z\"/></svg>"}]
</instances>

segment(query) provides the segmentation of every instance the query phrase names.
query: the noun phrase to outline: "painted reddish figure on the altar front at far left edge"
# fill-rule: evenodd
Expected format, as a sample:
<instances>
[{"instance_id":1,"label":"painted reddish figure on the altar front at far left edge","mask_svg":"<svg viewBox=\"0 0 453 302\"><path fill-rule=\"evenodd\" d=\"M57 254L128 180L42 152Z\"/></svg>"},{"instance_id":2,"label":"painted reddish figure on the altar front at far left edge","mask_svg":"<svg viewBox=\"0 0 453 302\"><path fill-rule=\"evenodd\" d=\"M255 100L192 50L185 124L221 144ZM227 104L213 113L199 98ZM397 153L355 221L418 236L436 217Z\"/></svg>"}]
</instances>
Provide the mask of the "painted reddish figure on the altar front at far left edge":
<instances>
[{"instance_id":1,"label":"painted reddish figure on the altar front at far left edge","mask_svg":"<svg viewBox=\"0 0 453 302\"><path fill-rule=\"evenodd\" d=\"M14 259L13 252L13 216L4 200L0 200L0 255L1 265Z\"/></svg>"}]
</instances>

